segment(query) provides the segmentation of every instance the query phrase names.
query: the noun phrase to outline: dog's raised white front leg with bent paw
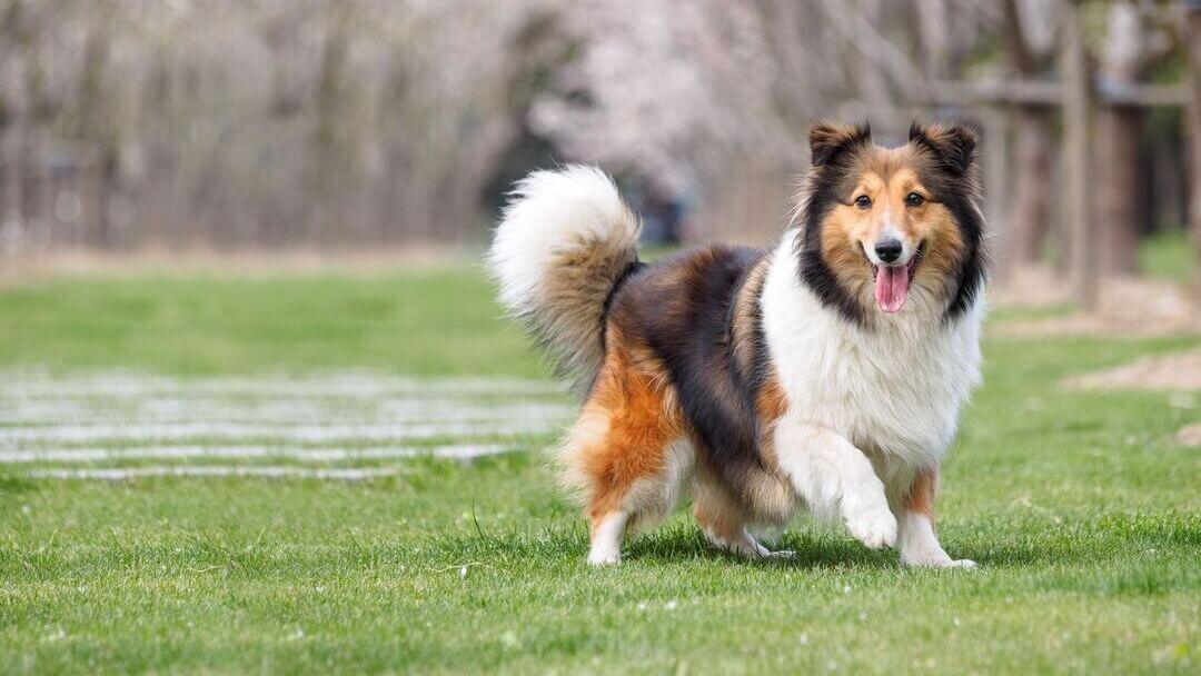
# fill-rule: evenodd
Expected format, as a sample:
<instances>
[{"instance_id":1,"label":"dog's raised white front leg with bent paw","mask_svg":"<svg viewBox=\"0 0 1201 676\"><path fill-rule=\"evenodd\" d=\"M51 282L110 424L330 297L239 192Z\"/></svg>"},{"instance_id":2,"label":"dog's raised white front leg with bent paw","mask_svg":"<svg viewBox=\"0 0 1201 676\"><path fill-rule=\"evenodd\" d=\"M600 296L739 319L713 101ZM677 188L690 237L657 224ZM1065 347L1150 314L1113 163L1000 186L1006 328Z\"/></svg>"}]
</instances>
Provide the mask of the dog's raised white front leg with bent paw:
<instances>
[{"instance_id":1,"label":"dog's raised white front leg with bent paw","mask_svg":"<svg viewBox=\"0 0 1201 676\"><path fill-rule=\"evenodd\" d=\"M839 516L868 548L892 546L897 520L871 461L830 427L785 415L775 430L776 460L818 518Z\"/></svg>"}]
</instances>

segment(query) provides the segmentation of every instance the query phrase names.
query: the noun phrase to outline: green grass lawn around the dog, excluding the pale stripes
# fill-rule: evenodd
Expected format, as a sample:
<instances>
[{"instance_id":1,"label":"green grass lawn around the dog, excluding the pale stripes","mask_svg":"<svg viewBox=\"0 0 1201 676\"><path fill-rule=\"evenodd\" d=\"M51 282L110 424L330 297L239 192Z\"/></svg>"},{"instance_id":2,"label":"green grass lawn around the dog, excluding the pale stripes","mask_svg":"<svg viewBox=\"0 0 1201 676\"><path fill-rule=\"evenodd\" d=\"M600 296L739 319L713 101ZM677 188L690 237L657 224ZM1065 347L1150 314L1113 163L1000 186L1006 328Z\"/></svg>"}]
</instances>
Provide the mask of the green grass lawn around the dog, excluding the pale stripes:
<instances>
[{"instance_id":1,"label":"green grass lawn around the dog, excluding the pale stripes","mask_svg":"<svg viewBox=\"0 0 1201 676\"><path fill-rule=\"evenodd\" d=\"M112 369L184 382L346 369L546 377L497 313L466 268L59 277L0 291L0 388ZM552 433L471 463L360 459L402 473L353 483L54 480L30 474L54 462L0 465L0 665L1197 674L1201 454L1172 437L1201 419L1201 396L1057 385L1195 346L988 339L986 384L939 501L945 548L975 570L903 569L895 552L807 522L783 538L796 560L747 562L707 548L683 513L629 542L622 566L590 569L582 520L540 450ZM214 415L258 411L210 403ZM0 447L18 443L2 435L20 415L0 423ZM114 462L72 467L97 463Z\"/></svg>"}]
</instances>

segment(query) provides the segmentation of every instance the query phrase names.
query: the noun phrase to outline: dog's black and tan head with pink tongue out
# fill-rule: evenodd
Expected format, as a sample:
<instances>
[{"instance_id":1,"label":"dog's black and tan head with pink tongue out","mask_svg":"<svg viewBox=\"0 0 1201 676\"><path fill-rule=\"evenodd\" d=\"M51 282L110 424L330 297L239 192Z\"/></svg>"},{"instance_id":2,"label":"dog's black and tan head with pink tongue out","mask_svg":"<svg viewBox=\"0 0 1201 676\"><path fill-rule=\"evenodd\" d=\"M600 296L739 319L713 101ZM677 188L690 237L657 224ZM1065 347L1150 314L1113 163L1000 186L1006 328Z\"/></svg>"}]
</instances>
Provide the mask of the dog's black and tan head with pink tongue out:
<instances>
[{"instance_id":1,"label":"dog's black and tan head with pink tongue out","mask_svg":"<svg viewBox=\"0 0 1201 676\"><path fill-rule=\"evenodd\" d=\"M797 210L803 283L865 325L888 316L954 319L984 280L975 133L914 124L900 148L867 125L818 122Z\"/></svg>"}]
</instances>

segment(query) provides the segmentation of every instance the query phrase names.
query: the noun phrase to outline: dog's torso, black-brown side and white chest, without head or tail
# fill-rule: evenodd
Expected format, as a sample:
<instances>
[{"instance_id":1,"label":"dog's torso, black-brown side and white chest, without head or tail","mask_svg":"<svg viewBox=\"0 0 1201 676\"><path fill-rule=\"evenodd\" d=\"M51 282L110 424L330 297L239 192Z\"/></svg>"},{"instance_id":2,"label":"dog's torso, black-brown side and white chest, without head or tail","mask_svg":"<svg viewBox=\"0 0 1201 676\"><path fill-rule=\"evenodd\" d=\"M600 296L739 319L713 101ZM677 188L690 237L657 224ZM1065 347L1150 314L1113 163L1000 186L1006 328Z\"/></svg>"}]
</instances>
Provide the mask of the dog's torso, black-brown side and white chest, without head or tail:
<instances>
[{"instance_id":1,"label":"dog's torso, black-brown side and white chest, without head or tail","mask_svg":"<svg viewBox=\"0 0 1201 676\"><path fill-rule=\"evenodd\" d=\"M766 527L801 504L778 469L776 455L789 453L773 444L782 414L844 436L892 497L945 454L979 372L978 311L865 333L800 283L790 252L789 238L773 252L685 252L631 274L607 318L607 349L641 354L638 367L668 385L694 492L724 491Z\"/></svg>"}]
</instances>

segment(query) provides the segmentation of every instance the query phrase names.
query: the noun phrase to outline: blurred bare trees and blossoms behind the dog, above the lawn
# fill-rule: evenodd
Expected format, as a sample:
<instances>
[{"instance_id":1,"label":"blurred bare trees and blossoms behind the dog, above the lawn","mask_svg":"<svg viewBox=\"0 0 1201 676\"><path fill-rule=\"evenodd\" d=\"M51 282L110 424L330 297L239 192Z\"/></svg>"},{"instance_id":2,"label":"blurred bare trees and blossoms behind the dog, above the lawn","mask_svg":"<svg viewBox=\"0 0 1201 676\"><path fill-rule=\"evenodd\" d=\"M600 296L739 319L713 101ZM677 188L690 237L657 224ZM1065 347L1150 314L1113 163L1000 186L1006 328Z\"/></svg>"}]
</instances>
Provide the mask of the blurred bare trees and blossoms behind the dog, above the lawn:
<instances>
[{"instance_id":1,"label":"blurred bare trees and blossoms behind the dog, above the lawn","mask_svg":"<svg viewBox=\"0 0 1201 676\"><path fill-rule=\"evenodd\" d=\"M1095 309L1195 269L1196 5L2 0L0 264L478 250L556 162L616 174L651 241L765 243L814 118L957 118L997 277Z\"/></svg>"}]
</instances>

